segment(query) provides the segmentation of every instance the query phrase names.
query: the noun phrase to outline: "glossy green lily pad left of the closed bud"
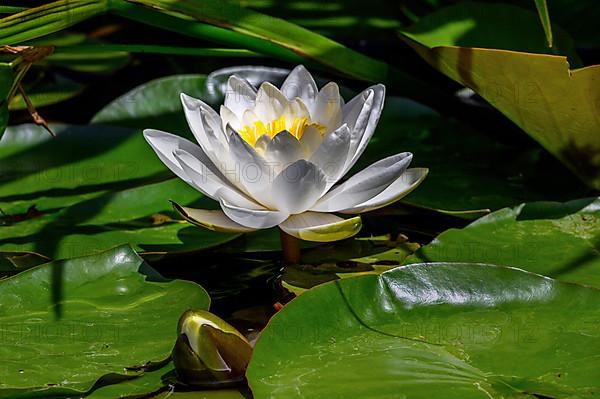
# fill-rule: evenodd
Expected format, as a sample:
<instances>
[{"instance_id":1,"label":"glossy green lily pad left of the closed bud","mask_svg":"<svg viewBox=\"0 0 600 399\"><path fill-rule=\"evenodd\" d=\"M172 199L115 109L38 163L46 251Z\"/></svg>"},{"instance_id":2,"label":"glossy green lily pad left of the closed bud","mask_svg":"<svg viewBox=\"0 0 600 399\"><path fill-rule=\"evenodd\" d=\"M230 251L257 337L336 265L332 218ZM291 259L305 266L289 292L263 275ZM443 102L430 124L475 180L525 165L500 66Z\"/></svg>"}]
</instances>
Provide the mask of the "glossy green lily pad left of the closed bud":
<instances>
[{"instance_id":1,"label":"glossy green lily pad left of the closed bud","mask_svg":"<svg viewBox=\"0 0 600 399\"><path fill-rule=\"evenodd\" d=\"M168 359L185 310L209 306L202 287L163 280L128 246L35 267L1 281L0 294L5 398L135 377Z\"/></svg>"}]
</instances>

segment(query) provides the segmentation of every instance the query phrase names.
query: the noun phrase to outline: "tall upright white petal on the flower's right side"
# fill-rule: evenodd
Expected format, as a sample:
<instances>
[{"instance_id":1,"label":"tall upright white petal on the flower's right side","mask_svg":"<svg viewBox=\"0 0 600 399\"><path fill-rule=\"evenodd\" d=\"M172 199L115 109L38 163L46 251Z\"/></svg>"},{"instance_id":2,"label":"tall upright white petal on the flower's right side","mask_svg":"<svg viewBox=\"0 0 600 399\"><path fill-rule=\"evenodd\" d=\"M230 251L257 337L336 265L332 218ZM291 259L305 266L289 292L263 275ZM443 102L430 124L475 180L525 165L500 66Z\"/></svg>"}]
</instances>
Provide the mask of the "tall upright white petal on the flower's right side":
<instances>
[{"instance_id":1,"label":"tall upright white petal on the flower's right side","mask_svg":"<svg viewBox=\"0 0 600 399\"><path fill-rule=\"evenodd\" d=\"M350 126L352 139L351 156L346 161L342 177L354 166L369 144L379 122L384 101L385 86L378 84L369 87L344 105L342 121Z\"/></svg>"}]
</instances>

